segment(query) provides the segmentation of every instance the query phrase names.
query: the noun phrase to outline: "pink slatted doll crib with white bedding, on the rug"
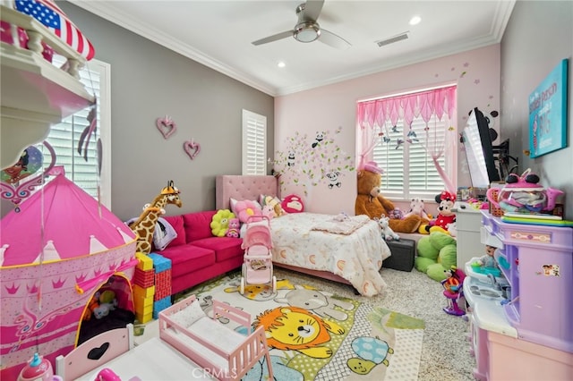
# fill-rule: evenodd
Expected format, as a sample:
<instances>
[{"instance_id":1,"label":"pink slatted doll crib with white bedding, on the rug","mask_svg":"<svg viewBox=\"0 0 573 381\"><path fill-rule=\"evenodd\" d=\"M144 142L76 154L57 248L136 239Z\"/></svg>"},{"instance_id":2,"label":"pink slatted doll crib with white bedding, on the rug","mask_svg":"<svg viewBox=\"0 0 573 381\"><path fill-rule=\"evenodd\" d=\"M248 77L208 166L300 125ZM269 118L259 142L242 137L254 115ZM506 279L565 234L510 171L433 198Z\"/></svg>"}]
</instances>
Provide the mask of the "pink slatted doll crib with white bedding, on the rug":
<instances>
[{"instance_id":1,"label":"pink slatted doll crib with white bedding, on the rug","mask_svg":"<svg viewBox=\"0 0 573 381\"><path fill-rule=\"evenodd\" d=\"M222 317L231 323L223 325L218 321ZM230 327L237 325L248 334ZM213 318L209 318L195 295L159 312L159 337L220 380L241 379L263 356L273 379L264 328L251 331L248 313L214 300Z\"/></svg>"}]
</instances>

